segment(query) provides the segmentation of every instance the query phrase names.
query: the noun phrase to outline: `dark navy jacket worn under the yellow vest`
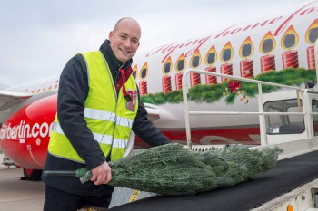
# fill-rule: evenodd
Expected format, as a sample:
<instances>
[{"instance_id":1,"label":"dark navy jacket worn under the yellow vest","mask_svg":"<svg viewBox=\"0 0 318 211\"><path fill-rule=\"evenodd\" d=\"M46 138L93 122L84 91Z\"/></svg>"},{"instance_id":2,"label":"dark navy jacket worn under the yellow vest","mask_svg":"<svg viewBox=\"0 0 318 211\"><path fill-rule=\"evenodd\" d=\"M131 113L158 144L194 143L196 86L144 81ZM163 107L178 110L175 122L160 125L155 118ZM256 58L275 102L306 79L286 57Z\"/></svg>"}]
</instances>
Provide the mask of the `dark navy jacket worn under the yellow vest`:
<instances>
[{"instance_id":1,"label":"dark navy jacket worn under the yellow vest","mask_svg":"<svg viewBox=\"0 0 318 211\"><path fill-rule=\"evenodd\" d=\"M123 66L123 63L115 58L108 40L102 44L100 51L108 62L114 84L116 84L119 79L119 69L128 68L133 61L125 62ZM104 161L109 161L109 158L104 157L104 153L100 149L98 142L94 140L93 134L87 128L84 120L84 101L88 91L87 68L84 57L81 54L77 54L66 63L60 77L57 115L66 137L70 140L78 155L85 160L86 165L64 158L57 158L48 153L44 171L76 170L84 167L93 169L104 163ZM138 101L138 111L133 124L134 133L150 146L171 142L147 119L147 111L144 109L144 104L139 97ZM42 180L51 187L84 196L104 195L114 190L113 187L107 185L95 186L91 181L81 184L76 177L50 177L43 175Z\"/></svg>"}]
</instances>

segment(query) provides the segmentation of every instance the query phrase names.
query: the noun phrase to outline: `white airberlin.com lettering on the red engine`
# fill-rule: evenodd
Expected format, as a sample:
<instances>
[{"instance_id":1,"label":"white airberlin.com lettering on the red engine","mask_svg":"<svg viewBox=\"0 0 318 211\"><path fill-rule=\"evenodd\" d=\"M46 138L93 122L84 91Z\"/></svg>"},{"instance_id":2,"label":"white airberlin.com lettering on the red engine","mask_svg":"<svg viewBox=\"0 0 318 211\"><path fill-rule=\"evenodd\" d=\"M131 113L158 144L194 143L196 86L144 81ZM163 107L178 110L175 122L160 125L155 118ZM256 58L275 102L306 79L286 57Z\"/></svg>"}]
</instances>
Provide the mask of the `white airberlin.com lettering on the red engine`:
<instances>
[{"instance_id":1,"label":"white airberlin.com lettering on the red engine","mask_svg":"<svg viewBox=\"0 0 318 211\"><path fill-rule=\"evenodd\" d=\"M52 123L43 122L25 124L25 120L21 120L19 125L11 126L11 123L4 124L0 129L0 140L5 139L25 139L25 138L45 138L50 136Z\"/></svg>"}]
</instances>

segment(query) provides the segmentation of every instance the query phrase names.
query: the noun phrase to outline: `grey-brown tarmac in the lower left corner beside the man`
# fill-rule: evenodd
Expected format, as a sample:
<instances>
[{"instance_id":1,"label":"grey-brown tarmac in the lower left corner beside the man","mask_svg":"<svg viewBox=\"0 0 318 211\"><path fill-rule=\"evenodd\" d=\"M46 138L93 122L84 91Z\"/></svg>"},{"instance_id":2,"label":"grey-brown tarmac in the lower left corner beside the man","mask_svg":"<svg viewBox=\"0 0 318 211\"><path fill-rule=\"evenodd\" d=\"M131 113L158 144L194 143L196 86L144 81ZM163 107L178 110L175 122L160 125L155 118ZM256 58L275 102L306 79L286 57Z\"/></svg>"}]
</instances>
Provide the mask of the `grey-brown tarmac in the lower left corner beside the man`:
<instances>
[{"instance_id":1,"label":"grey-brown tarmac in the lower left corner beside the man","mask_svg":"<svg viewBox=\"0 0 318 211\"><path fill-rule=\"evenodd\" d=\"M42 211L45 201L45 184L25 181L22 168L2 165L0 152L0 211Z\"/></svg>"}]
</instances>

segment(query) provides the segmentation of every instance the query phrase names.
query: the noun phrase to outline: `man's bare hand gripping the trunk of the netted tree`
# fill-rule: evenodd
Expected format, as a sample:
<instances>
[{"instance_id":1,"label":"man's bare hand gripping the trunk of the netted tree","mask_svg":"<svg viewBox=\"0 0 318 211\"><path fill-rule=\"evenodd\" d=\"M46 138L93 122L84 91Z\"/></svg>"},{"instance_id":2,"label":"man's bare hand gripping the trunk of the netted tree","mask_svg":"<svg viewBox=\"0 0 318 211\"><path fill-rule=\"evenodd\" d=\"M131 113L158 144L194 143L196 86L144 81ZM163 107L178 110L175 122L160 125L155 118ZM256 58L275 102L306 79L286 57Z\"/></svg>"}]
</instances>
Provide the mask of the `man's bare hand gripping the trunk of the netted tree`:
<instances>
[{"instance_id":1,"label":"man's bare hand gripping the trunk of the netted tree","mask_svg":"<svg viewBox=\"0 0 318 211\"><path fill-rule=\"evenodd\" d=\"M111 168L108 166L107 162L104 162L103 164L92 169L91 181L93 181L96 186L107 184L111 179Z\"/></svg>"}]
</instances>

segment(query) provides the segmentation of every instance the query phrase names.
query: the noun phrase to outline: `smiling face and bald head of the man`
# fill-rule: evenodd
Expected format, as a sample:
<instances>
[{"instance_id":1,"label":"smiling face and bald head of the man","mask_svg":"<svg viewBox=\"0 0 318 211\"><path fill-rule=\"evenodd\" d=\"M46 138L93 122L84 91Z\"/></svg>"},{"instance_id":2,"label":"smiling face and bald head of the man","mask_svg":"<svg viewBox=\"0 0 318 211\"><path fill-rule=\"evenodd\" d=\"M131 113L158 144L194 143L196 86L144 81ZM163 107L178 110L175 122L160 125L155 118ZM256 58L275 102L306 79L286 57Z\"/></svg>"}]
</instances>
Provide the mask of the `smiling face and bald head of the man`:
<instances>
[{"instance_id":1,"label":"smiling face and bald head of the man","mask_svg":"<svg viewBox=\"0 0 318 211\"><path fill-rule=\"evenodd\" d=\"M122 20L114 31L109 33L110 46L121 62L130 60L139 47L141 30L133 20Z\"/></svg>"}]
</instances>

